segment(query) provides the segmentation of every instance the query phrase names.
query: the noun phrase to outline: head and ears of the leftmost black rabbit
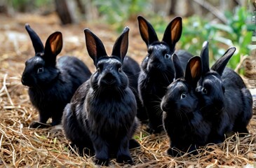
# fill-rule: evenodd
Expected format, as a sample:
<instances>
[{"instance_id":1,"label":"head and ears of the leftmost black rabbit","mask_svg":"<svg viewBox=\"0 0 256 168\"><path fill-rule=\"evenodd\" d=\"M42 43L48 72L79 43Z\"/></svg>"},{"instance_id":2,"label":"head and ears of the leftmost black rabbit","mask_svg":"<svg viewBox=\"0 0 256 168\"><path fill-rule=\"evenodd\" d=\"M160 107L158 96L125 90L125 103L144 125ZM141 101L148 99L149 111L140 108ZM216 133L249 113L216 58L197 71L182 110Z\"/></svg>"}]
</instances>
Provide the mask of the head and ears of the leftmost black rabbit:
<instances>
[{"instance_id":1,"label":"head and ears of the leftmost black rabbit","mask_svg":"<svg viewBox=\"0 0 256 168\"><path fill-rule=\"evenodd\" d=\"M48 85L60 73L55 65L56 57L62 50L62 34L60 31L51 34L44 48L36 32L27 24L25 28L32 40L35 56L27 59L25 62L25 70L22 73L21 80L22 84L29 87Z\"/></svg>"}]
</instances>

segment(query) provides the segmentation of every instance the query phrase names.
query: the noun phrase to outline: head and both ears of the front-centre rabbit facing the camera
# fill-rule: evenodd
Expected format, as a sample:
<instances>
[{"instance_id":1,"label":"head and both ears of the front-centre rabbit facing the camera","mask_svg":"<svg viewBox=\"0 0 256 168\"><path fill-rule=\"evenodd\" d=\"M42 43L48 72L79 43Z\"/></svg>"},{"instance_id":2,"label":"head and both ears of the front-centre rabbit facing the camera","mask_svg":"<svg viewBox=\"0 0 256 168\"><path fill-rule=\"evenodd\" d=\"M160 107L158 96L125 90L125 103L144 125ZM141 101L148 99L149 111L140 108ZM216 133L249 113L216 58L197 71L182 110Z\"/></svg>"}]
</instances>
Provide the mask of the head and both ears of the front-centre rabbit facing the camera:
<instances>
[{"instance_id":1,"label":"head and both ears of the front-centre rabbit facing the camera","mask_svg":"<svg viewBox=\"0 0 256 168\"><path fill-rule=\"evenodd\" d=\"M94 90L111 92L123 90L128 87L128 77L122 70L123 59L128 50L128 32L126 27L119 38L116 39L112 55L108 56L105 47L90 29L85 29L86 47L97 69L91 76L90 83Z\"/></svg>"}]
</instances>

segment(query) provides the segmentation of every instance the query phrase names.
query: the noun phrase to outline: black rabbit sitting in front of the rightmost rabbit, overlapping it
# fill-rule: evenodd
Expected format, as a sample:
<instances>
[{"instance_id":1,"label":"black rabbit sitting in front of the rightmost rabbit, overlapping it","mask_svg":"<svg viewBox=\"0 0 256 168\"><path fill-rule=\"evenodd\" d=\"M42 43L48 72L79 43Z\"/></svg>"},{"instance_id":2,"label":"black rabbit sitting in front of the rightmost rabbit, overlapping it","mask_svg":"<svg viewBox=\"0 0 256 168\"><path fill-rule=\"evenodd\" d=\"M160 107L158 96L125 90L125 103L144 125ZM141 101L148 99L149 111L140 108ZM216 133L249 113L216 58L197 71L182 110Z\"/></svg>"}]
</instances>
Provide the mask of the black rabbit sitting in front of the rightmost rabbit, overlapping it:
<instances>
[{"instance_id":1,"label":"black rabbit sitting in front of the rightmost rabbit, overlapping it","mask_svg":"<svg viewBox=\"0 0 256 168\"><path fill-rule=\"evenodd\" d=\"M175 80L167 87L161 101L163 125L170 138L167 153L172 156L185 152L196 154L198 146L205 146L210 125L201 115L196 84L201 78L201 59L189 59L185 74L177 55L173 54Z\"/></svg>"}]
</instances>

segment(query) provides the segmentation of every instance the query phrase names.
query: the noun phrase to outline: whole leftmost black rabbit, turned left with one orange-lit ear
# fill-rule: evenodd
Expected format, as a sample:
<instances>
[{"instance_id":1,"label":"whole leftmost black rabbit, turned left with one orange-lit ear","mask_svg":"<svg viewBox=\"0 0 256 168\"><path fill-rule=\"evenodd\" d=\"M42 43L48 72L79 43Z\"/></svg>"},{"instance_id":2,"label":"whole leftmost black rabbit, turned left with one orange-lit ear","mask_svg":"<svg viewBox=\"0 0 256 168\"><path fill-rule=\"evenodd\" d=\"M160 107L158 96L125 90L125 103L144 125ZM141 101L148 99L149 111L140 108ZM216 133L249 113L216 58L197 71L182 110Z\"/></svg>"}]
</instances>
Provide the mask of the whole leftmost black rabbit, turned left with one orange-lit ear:
<instances>
[{"instance_id":1,"label":"whole leftmost black rabbit, turned left with one orange-lit ear","mask_svg":"<svg viewBox=\"0 0 256 168\"><path fill-rule=\"evenodd\" d=\"M49 118L52 118L51 125L58 125L76 89L90 78L90 70L80 59L71 56L60 57L56 64L56 56L62 50L59 31L48 37L44 48L36 32L27 24L25 28L36 55L26 61L21 81L29 87L30 101L39 111L39 122L29 127L48 127Z\"/></svg>"}]
</instances>

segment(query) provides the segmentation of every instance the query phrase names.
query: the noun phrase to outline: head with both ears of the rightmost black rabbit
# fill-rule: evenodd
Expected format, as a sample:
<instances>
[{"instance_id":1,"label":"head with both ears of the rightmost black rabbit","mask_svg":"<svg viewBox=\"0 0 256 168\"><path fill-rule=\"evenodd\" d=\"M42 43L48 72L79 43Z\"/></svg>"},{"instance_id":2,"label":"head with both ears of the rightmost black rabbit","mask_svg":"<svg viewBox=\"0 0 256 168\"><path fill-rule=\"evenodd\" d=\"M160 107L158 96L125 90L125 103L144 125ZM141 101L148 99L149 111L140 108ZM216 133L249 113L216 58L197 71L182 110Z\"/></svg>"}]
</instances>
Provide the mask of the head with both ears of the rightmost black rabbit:
<instances>
[{"instance_id":1,"label":"head with both ears of the rightmost black rabbit","mask_svg":"<svg viewBox=\"0 0 256 168\"><path fill-rule=\"evenodd\" d=\"M222 111L224 108L225 88L222 82L222 73L234 54L236 48L229 48L220 59L218 59L211 68L209 68L208 42L203 44L201 51L201 61L203 67L202 77L198 82L196 92L201 102L203 111Z\"/></svg>"}]
</instances>

